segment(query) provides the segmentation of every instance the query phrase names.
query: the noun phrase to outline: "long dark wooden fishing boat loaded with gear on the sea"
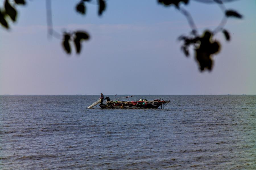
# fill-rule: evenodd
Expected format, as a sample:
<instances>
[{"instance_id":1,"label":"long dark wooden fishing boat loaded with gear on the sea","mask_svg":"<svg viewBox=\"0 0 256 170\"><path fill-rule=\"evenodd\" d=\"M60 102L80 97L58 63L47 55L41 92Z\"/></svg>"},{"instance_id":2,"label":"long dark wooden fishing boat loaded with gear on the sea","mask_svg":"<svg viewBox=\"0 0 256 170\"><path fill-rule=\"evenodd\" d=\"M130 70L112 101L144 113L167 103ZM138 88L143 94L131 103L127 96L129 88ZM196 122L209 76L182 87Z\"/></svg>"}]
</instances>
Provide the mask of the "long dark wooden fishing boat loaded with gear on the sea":
<instances>
[{"instance_id":1,"label":"long dark wooden fishing boat loaded with gear on the sea","mask_svg":"<svg viewBox=\"0 0 256 170\"><path fill-rule=\"evenodd\" d=\"M123 98L128 97L132 96L127 96ZM161 106L161 108L164 108L168 103L170 103L170 100L163 100L161 98L153 101L119 101L117 99L114 99L112 101L105 102L105 104L100 104L100 107L102 109L157 109L159 106Z\"/></svg>"}]
</instances>

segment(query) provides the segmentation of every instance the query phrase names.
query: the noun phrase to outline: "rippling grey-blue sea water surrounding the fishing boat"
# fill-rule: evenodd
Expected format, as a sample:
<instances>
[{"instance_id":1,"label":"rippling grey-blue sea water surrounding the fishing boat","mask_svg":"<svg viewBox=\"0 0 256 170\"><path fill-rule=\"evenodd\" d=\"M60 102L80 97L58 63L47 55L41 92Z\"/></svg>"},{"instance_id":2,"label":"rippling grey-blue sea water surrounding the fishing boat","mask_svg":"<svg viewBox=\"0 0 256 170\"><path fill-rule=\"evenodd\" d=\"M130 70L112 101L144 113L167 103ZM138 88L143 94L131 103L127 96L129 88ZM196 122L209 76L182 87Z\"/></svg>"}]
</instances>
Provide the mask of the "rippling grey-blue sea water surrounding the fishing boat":
<instances>
[{"instance_id":1,"label":"rippling grey-blue sea water surrounding the fishing boat","mask_svg":"<svg viewBox=\"0 0 256 170\"><path fill-rule=\"evenodd\" d=\"M0 96L0 169L256 169L255 95L138 95L170 104L86 109L99 97Z\"/></svg>"}]
</instances>

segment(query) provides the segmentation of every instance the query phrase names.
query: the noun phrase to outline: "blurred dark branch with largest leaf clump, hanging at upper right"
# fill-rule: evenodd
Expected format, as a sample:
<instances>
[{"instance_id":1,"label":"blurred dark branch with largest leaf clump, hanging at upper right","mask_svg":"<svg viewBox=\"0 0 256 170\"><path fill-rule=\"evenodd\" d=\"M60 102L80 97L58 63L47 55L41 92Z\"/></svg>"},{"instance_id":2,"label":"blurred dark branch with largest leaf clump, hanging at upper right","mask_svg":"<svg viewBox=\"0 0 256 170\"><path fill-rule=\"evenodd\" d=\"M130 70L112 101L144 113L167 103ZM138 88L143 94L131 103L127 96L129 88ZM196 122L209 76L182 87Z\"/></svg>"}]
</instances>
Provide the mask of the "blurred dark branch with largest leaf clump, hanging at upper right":
<instances>
[{"instance_id":1,"label":"blurred dark branch with largest leaf clump, hanging at upper right","mask_svg":"<svg viewBox=\"0 0 256 170\"><path fill-rule=\"evenodd\" d=\"M185 56L189 56L189 46L193 45L195 59L199 63L199 69L201 71L204 70L212 70L213 66L213 55L217 54L220 51L220 42L213 39L213 36L218 32L222 31L227 41L230 41L229 32L224 29L228 17L242 18L242 15L236 12L235 10L226 10L222 0L197 0L200 2L210 3L214 2L219 5L220 9L223 11L223 19L218 25L216 29L213 31L205 30L203 35L198 35L198 31L196 25L187 10L180 7L181 2L185 5L189 3L189 0L158 0L160 4L164 6L172 6L175 7L183 14L188 20L188 23L191 27L191 35L190 36L180 36L178 39L183 41L183 45L181 46L181 50L185 54ZM231 1L231 0L230 0Z\"/></svg>"}]
</instances>

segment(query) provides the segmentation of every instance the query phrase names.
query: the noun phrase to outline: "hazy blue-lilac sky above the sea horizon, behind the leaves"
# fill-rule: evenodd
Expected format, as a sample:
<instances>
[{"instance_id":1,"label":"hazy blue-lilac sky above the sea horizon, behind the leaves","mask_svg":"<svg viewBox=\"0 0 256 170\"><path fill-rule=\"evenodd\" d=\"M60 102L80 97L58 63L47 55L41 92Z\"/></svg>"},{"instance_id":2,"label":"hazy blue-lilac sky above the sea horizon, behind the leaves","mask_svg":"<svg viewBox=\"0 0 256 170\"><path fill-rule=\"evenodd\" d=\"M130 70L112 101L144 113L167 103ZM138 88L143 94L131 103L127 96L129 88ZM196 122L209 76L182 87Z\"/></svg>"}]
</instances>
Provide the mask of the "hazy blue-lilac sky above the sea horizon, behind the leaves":
<instances>
[{"instance_id":1,"label":"hazy blue-lilac sky above the sea horizon, behind the leaves","mask_svg":"<svg viewBox=\"0 0 256 170\"><path fill-rule=\"evenodd\" d=\"M74 48L65 54L61 40L47 35L45 1L27 1L11 30L0 28L0 94L256 94L255 0L225 4L244 17L228 20L230 42L216 36L221 52L212 72L203 73L193 51L187 58L180 50L177 37L191 30L174 7L108 0L98 17L95 1L86 16L75 12L77 2L53 0L52 14L59 33L90 33L80 55ZM199 31L214 29L223 16L216 4L190 1L183 7Z\"/></svg>"}]
</instances>

